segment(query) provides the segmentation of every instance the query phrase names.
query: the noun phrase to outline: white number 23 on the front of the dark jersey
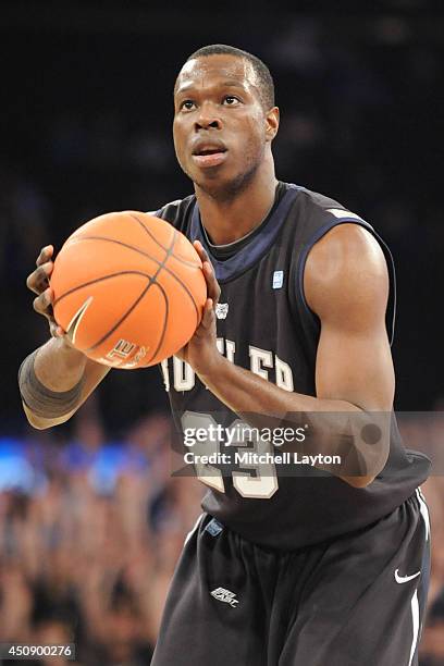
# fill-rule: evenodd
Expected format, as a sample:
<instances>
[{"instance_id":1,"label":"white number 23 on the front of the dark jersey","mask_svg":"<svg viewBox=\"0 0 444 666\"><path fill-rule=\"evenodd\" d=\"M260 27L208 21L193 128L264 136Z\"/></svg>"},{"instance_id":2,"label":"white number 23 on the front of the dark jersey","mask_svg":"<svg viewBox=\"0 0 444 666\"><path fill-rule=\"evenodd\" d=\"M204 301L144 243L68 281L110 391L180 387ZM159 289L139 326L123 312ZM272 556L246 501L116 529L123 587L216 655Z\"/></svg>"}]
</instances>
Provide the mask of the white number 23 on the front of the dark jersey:
<instances>
[{"instance_id":1,"label":"white number 23 on the front of the dark jersey","mask_svg":"<svg viewBox=\"0 0 444 666\"><path fill-rule=\"evenodd\" d=\"M209 414L200 414L198 411L185 411L182 416L182 428L188 432L215 432L218 427L215 420ZM211 427L211 428L210 428ZM233 440L232 446L240 448L248 445L248 452L254 454L267 454L272 452L270 442L255 437L248 440L248 432L251 430L248 423L236 419L230 427L230 430L236 434L245 433L245 437L240 436ZM193 446L193 453L196 457L199 455L211 455L221 453L221 442L215 437L208 437L203 442L197 441ZM225 484L221 470L213 465L195 464L198 479L220 491L225 492ZM278 490L278 477L273 462L261 462L252 465L243 462L242 467L256 472L252 476L248 471L233 471L233 485L243 497L255 497L257 499L269 499Z\"/></svg>"}]
</instances>

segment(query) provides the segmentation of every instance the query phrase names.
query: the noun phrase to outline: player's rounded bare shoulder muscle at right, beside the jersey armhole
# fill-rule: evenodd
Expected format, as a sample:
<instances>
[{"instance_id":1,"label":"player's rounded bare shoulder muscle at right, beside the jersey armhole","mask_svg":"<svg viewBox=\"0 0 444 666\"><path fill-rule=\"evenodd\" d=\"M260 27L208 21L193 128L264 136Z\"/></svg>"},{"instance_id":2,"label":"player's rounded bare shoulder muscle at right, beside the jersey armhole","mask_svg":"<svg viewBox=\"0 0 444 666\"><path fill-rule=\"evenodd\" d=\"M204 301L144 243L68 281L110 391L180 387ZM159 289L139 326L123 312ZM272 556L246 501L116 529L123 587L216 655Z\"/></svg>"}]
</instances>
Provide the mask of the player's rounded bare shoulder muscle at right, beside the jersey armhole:
<instances>
[{"instance_id":1,"label":"player's rounded bare shoulder muscle at right, beside the jersey armhole","mask_svg":"<svg viewBox=\"0 0 444 666\"><path fill-rule=\"evenodd\" d=\"M309 307L321 317L333 310L385 312L388 271L381 245L359 224L334 226L308 255L304 291Z\"/></svg>"}]
</instances>

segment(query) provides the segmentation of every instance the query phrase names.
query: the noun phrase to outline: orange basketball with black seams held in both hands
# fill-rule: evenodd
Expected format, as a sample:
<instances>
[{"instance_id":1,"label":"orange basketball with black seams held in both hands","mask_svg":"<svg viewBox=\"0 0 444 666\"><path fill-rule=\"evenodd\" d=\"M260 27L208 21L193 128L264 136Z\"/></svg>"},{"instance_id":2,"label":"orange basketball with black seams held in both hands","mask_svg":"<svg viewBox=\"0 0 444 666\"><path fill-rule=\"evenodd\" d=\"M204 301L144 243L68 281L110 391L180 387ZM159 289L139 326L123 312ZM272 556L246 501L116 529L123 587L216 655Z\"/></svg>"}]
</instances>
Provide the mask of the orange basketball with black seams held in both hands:
<instances>
[{"instance_id":1,"label":"orange basketball with black seams held in both hands","mask_svg":"<svg viewBox=\"0 0 444 666\"><path fill-rule=\"evenodd\" d=\"M75 231L51 275L54 318L73 345L113 368L153 366L181 349L207 298L201 261L171 224L127 210Z\"/></svg>"}]
</instances>

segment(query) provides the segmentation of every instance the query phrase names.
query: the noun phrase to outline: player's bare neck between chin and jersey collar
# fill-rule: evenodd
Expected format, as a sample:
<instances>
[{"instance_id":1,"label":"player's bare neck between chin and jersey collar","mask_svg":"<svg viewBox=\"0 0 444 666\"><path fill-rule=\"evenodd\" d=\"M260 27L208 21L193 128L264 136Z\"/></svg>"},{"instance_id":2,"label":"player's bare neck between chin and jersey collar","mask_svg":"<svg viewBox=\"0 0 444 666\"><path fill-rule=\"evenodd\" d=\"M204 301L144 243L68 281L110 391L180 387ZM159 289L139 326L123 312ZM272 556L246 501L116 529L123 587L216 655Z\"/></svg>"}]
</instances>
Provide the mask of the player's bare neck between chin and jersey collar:
<instances>
[{"instance_id":1,"label":"player's bare neck between chin and jersey collar","mask_svg":"<svg viewBox=\"0 0 444 666\"><path fill-rule=\"evenodd\" d=\"M231 197L219 198L196 184L200 218L214 245L234 243L258 226L274 203L276 185L271 153L248 185Z\"/></svg>"}]
</instances>

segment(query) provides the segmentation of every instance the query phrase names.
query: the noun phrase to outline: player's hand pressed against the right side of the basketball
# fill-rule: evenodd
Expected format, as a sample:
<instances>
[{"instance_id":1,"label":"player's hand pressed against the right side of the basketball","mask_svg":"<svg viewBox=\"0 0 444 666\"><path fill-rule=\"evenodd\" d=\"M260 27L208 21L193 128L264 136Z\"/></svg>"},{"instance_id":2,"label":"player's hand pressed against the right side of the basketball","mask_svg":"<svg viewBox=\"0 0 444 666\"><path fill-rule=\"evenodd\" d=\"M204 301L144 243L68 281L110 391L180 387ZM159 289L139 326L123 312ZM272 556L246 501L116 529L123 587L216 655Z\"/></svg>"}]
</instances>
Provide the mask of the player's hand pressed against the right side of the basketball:
<instances>
[{"instance_id":1,"label":"player's hand pressed against the right side of the basketball","mask_svg":"<svg viewBox=\"0 0 444 666\"><path fill-rule=\"evenodd\" d=\"M221 287L215 279L211 261L199 240L194 242L194 247L202 262L202 272L207 282L207 301L203 314L195 334L185 347L176 356L189 363L193 370L200 375L212 372L212 369L221 360L221 354L217 347L215 333L215 306L221 294Z\"/></svg>"}]
</instances>

